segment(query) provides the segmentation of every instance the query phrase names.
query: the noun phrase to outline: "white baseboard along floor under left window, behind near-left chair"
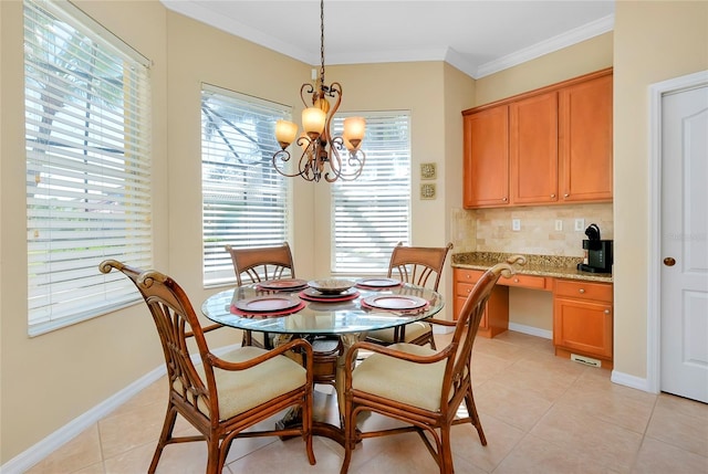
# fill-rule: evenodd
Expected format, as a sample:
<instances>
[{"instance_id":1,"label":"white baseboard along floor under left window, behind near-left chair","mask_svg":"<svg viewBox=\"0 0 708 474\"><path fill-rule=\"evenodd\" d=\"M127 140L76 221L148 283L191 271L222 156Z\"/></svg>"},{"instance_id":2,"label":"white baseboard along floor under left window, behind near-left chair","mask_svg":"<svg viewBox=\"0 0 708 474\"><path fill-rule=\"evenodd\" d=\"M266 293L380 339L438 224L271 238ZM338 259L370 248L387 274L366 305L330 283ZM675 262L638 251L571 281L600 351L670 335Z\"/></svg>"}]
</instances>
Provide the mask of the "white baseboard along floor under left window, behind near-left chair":
<instances>
[{"instance_id":1,"label":"white baseboard along floor under left window, behind near-left chair","mask_svg":"<svg viewBox=\"0 0 708 474\"><path fill-rule=\"evenodd\" d=\"M219 356L235 349L238 346L240 345L221 347L219 349L215 349L214 354ZM198 358L199 355L197 354L196 357ZM49 436L41 440L39 443L18 454L13 459L1 465L0 472L2 474L22 474L23 472L29 471L30 467L38 464L44 457L59 450L61 446L76 438L79 434L83 433L87 428L90 428L94 423L97 423L101 419L111 414L111 412L113 412L116 408L121 407L123 403L135 397L142 390L149 387L165 373L166 369L165 365L163 364L158 368L140 377L119 392L115 393L91 410L73 419L59 430L51 433Z\"/></svg>"}]
</instances>

